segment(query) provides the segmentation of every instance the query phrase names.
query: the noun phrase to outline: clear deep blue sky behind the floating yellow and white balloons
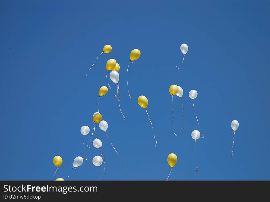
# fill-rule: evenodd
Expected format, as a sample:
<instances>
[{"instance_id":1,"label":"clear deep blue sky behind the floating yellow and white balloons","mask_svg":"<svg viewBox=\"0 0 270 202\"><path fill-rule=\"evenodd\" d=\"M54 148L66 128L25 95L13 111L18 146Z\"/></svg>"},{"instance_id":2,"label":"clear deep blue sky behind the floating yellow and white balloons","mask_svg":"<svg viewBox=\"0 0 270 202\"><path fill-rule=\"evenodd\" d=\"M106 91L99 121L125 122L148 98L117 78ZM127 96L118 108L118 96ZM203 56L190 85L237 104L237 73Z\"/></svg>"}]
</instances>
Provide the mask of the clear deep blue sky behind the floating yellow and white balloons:
<instances>
[{"instance_id":1,"label":"clear deep blue sky behind the floating yellow and white balloons","mask_svg":"<svg viewBox=\"0 0 270 202\"><path fill-rule=\"evenodd\" d=\"M67 178L76 156L84 157L80 128L92 132L98 89L107 85L105 65L120 64L122 119L112 93L100 99L108 135L131 172L97 128L106 159L103 180L165 180L167 156L178 162L170 180L269 180L268 1L1 1L1 180L50 180L55 155L63 158L56 177ZM182 68L180 45L189 50ZM108 54L98 59L105 44ZM10 49L10 47L12 47ZM141 57L126 68L132 49ZM130 101L126 79L132 96ZM169 86L184 90L174 97L172 133ZM115 89L115 85L112 85ZM195 107L188 92L198 91ZM149 101L158 139L137 97ZM231 156L232 120L238 120L235 156ZM91 134L90 132L90 134ZM84 136L85 142L90 134ZM70 180L98 180L92 158L72 171Z\"/></svg>"}]
</instances>

